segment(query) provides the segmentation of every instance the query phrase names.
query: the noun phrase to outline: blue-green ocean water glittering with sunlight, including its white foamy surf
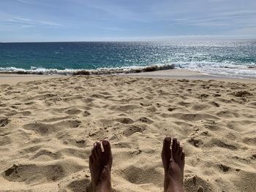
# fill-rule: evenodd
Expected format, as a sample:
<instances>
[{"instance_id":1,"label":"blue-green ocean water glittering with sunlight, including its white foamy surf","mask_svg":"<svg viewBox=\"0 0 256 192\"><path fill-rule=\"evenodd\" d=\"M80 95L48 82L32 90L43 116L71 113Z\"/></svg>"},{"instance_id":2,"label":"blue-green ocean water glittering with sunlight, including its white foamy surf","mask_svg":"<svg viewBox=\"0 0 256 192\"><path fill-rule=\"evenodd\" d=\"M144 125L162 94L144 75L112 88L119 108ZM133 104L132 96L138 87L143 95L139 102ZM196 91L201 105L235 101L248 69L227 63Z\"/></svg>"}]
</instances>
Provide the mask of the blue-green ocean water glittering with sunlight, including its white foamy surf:
<instances>
[{"instance_id":1,"label":"blue-green ocean water glittering with sunlight, including its white foamy surf","mask_svg":"<svg viewBox=\"0 0 256 192\"><path fill-rule=\"evenodd\" d=\"M0 43L0 72L129 72L170 65L219 76L256 78L256 40Z\"/></svg>"}]
</instances>

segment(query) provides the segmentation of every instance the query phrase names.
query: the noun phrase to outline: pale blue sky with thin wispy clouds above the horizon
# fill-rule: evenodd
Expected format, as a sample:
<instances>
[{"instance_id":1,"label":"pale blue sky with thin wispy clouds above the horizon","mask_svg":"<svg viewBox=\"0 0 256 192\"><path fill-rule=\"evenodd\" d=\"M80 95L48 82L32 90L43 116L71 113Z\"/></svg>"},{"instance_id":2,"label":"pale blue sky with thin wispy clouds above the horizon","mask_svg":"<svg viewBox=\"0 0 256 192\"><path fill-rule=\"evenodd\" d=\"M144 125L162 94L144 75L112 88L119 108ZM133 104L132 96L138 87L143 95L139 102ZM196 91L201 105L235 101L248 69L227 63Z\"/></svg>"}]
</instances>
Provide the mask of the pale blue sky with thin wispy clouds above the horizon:
<instances>
[{"instance_id":1,"label":"pale blue sky with thin wispy clouds above the horizon","mask_svg":"<svg viewBox=\"0 0 256 192\"><path fill-rule=\"evenodd\" d=\"M256 39L256 0L0 0L0 42Z\"/></svg>"}]
</instances>

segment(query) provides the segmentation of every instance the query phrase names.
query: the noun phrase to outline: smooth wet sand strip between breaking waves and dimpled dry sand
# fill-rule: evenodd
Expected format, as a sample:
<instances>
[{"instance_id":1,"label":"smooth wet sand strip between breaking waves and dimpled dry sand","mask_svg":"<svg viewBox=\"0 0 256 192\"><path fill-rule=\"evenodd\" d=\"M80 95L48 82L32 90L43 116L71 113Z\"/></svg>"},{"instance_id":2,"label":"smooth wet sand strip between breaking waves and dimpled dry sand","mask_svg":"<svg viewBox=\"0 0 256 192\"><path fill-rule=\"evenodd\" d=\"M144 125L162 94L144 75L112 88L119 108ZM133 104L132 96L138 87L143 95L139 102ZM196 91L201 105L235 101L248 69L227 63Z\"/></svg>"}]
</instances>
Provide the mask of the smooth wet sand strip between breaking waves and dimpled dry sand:
<instances>
[{"instance_id":1,"label":"smooth wet sand strip between breaking waves and dimpled dry sand","mask_svg":"<svg viewBox=\"0 0 256 192\"><path fill-rule=\"evenodd\" d=\"M72 75L44 75L44 74L0 74L0 85L10 84L15 85L18 82L29 82L34 80L48 80L58 77L70 77ZM87 75L85 75L86 77ZM157 78L157 79L187 79L187 80L219 80L225 82L245 82L256 83L255 79L239 78L239 77L223 77L214 76L210 74L203 74L202 72L191 71L188 69L167 69L154 72L140 72L129 74L91 74L90 77L97 76L118 76L118 77L143 77L143 78Z\"/></svg>"}]
</instances>

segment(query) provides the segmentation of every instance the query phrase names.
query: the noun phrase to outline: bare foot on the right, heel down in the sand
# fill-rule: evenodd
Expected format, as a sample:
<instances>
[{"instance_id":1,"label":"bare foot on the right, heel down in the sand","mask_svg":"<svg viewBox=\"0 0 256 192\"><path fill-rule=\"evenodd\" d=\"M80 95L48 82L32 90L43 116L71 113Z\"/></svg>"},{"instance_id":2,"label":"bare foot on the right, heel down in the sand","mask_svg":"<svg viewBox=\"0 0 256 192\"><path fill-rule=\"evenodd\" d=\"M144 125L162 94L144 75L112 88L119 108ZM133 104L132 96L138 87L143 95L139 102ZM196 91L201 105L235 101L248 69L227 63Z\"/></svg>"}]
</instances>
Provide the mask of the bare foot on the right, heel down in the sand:
<instances>
[{"instance_id":1,"label":"bare foot on the right, heel down in the sand","mask_svg":"<svg viewBox=\"0 0 256 192\"><path fill-rule=\"evenodd\" d=\"M165 137L162 146L162 164L165 169L165 192L182 192L184 178L185 154L177 139L173 139L170 149L170 137Z\"/></svg>"}]
</instances>

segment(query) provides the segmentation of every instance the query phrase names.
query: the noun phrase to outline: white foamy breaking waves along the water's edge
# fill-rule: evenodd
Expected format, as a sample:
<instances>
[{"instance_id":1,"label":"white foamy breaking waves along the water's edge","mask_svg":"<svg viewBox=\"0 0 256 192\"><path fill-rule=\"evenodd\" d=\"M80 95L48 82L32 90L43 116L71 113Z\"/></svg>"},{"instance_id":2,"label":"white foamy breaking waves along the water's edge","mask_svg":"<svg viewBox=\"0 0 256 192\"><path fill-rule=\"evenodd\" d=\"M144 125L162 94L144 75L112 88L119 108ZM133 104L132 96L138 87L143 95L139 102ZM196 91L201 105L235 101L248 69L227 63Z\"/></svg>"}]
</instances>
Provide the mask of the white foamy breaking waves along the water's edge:
<instances>
[{"instance_id":1,"label":"white foamy breaking waves along the water's edge","mask_svg":"<svg viewBox=\"0 0 256 192\"><path fill-rule=\"evenodd\" d=\"M153 72L166 69L189 69L192 71L203 72L205 74L241 77L241 78L256 78L256 65L243 64L239 65L233 62L208 62L194 61L183 62L177 61L172 64L154 64L151 66L125 66L117 68L100 68L100 69L45 69L31 66L31 69L20 69L15 67L0 67L1 73L15 74L47 74L47 75L72 75L72 74L120 74L120 73L138 73L138 72Z\"/></svg>"}]
</instances>

